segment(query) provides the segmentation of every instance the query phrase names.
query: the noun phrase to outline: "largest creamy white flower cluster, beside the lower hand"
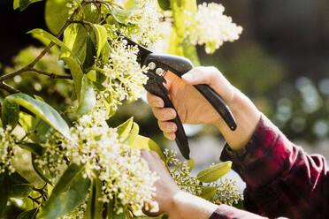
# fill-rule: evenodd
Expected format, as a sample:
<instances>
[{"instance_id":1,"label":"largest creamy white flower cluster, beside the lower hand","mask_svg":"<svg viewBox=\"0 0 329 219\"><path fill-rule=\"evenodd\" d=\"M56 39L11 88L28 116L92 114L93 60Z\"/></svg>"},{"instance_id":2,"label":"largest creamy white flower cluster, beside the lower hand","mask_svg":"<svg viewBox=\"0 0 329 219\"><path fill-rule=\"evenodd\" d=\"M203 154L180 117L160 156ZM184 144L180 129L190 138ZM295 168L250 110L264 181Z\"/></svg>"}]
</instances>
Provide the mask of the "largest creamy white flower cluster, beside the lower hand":
<instances>
[{"instance_id":1,"label":"largest creamy white flower cluster, beside the lower hand","mask_svg":"<svg viewBox=\"0 0 329 219\"><path fill-rule=\"evenodd\" d=\"M72 138L63 143L65 156L85 165L85 177L99 177L103 182L102 200L114 200L118 213L127 204L139 211L145 202L157 208L152 200L156 175L149 171L139 150L119 141L117 130L106 125L104 115L103 110L96 109L78 120L71 128Z\"/></svg>"}]
</instances>

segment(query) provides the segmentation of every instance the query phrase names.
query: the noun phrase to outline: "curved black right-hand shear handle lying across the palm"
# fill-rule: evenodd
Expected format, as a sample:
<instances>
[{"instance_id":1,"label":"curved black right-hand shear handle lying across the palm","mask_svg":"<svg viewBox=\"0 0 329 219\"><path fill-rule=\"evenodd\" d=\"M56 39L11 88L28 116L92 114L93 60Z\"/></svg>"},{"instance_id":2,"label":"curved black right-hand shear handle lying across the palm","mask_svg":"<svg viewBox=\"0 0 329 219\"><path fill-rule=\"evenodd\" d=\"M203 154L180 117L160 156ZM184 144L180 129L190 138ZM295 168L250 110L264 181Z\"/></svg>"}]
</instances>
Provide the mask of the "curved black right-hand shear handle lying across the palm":
<instances>
[{"instance_id":1,"label":"curved black right-hand shear handle lying across the palm","mask_svg":"<svg viewBox=\"0 0 329 219\"><path fill-rule=\"evenodd\" d=\"M208 85L201 84L194 86L204 98L218 111L219 115L224 119L226 125L230 127L231 130L236 129L236 121L233 117L232 111L226 105L226 102L220 98L220 96Z\"/></svg>"}]
</instances>

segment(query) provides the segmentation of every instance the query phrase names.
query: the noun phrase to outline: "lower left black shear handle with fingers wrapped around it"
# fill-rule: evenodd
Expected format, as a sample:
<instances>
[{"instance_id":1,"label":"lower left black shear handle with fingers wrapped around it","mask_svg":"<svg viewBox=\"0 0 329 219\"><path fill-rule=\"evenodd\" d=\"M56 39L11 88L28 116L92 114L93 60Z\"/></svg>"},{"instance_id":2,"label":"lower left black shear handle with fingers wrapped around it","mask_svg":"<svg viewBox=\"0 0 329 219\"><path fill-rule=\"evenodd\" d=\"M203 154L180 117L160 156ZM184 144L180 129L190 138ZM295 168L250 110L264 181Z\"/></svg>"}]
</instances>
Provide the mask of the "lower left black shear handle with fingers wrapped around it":
<instances>
[{"instance_id":1,"label":"lower left black shear handle with fingers wrapped around it","mask_svg":"<svg viewBox=\"0 0 329 219\"><path fill-rule=\"evenodd\" d=\"M157 79L149 79L147 84L145 85L145 88L149 93L155 94L159 97L161 97L165 102L165 108L172 108L175 109L175 107L172 104L172 101L170 100L168 94L168 90L165 88L165 86L157 82ZM188 141L187 141L187 135L184 131L184 127L181 123L180 117L176 111L176 117L171 122L175 123L177 125L177 131L176 134L176 143L177 146L180 149L181 155L184 156L185 159L189 160L189 147L188 147Z\"/></svg>"}]
</instances>

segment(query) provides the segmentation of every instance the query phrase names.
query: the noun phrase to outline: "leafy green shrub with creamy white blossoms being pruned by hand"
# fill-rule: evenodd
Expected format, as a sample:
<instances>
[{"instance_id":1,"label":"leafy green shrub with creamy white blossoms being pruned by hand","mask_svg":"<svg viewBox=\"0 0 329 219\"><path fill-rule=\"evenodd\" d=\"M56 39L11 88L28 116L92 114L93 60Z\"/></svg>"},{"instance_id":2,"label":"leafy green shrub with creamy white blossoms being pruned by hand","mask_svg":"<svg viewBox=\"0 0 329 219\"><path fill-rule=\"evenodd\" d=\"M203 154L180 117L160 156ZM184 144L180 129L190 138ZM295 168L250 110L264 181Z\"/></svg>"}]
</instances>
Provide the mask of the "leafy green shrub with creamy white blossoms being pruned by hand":
<instances>
[{"instance_id":1,"label":"leafy green shrub with creamy white blossoms being pruned by hand","mask_svg":"<svg viewBox=\"0 0 329 219\"><path fill-rule=\"evenodd\" d=\"M13 6L23 11L34 2L14 0ZM170 24L173 37L167 48L197 62L196 43L205 43L206 49L213 51L241 34L241 27L222 15L223 6L203 4L196 11L195 1L178 2L46 1L45 19L50 32L28 32L46 47L31 63L0 77L0 88L11 93L2 102L1 113L0 215L8 201L16 203L20 199L19 206L26 211L19 218L145 218L144 203L157 211L157 202L152 200L157 176L142 159L141 148L156 150L168 168L176 165L172 177L183 190L217 204L232 205L241 199L233 182L216 182L231 163L211 166L192 177L186 162L177 161L167 151L163 155L154 141L139 135L132 118L115 128L107 123L123 101L141 97L147 81L147 68L137 63L138 49L127 45L123 35L155 48L165 43L160 38L168 34L161 33L159 26ZM204 17L207 10L211 11L210 17L219 12L221 25L206 33L213 34L212 38L200 34L203 25L208 25L203 23L209 20ZM186 30L187 34L181 34ZM55 61L58 71L39 68L46 56L61 60ZM68 92L72 96L65 101L65 111L58 113L47 103L49 100L22 94L5 83L21 79L17 77L25 72L67 80L62 87L71 86ZM32 174L40 177L42 186L26 178L15 164L23 162L26 155L32 163L28 164Z\"/></svg>"}]
</instances>

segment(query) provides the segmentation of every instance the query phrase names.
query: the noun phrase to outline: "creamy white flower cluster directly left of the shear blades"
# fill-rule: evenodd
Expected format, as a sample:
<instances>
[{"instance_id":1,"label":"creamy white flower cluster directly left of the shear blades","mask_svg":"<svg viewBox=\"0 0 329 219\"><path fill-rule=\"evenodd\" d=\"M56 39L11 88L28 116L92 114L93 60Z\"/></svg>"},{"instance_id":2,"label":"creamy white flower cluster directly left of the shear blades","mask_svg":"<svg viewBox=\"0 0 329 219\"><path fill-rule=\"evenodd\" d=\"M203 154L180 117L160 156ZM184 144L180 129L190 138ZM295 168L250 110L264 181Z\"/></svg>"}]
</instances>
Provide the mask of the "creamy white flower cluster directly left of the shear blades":
<instances>
[{"instance_id":1,"label":"creamy white flower cluster directly left of the shear blades","mask_svg":"<svg viewBox=\"0 0 329 219\"><path fill-rule=\"evenodd\" d=\"M106 90L99 94L115 111L124 100L132 102L142 96L148 77L146 68L137 63L138 48L126 45L125 40L111 42L111 54L103 73L107 76Z\"/></svg>"}]
</instances>

